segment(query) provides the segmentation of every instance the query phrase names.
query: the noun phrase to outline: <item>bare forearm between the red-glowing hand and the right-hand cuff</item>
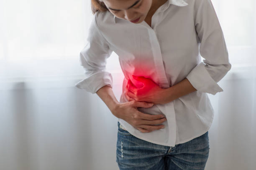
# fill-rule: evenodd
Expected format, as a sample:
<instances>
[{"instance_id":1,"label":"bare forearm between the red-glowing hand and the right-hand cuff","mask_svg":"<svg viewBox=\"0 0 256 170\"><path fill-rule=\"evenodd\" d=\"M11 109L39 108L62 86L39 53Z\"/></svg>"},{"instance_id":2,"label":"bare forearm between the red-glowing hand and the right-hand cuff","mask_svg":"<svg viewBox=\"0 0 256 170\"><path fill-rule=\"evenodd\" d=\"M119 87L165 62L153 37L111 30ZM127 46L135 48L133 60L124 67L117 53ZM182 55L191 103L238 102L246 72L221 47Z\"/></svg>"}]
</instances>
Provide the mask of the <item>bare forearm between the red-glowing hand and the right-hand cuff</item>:
<instances>
[{"instance_id":1,"label":"bare forearm between the red-glowing hand and the right-hand cuff","mask_svg":"<svg viewBox=\"0 0 256 170\"><path fill-rule=\"evenodd\" d=\"M171 102L183 95L187 95L191 92L195 92L197 89L192 86L192 84L185 78L181 82L173 85L172 87L164 89L164 94L166 94L165 103Z\"/></svg>"}]
</instances>

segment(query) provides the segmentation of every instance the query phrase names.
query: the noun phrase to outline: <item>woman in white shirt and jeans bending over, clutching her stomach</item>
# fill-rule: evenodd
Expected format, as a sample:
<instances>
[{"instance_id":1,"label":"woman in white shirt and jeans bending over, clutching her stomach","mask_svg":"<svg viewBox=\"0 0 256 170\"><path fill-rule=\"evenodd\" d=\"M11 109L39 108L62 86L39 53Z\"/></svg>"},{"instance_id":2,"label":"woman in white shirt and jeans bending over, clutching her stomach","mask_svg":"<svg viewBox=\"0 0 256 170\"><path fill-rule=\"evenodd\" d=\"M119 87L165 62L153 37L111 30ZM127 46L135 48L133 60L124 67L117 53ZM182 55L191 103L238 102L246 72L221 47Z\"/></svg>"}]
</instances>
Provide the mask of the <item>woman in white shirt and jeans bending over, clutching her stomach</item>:
<instances>
[{"instance_id":1,"label":"woman in white shirt and jeans bending over, clutching her stomach","mask_svg":"<svg viewBox=\"0 0 256 170\"><path fill-rule=\"evenodd\" d=\"M120 170L203 170L214 115L207 93L222 92L217 82L231 69L211 0L92 0L92 12L76 87L118 117ZM113 51L120 102L105 71Z\"/></svg>"}]
</instances>

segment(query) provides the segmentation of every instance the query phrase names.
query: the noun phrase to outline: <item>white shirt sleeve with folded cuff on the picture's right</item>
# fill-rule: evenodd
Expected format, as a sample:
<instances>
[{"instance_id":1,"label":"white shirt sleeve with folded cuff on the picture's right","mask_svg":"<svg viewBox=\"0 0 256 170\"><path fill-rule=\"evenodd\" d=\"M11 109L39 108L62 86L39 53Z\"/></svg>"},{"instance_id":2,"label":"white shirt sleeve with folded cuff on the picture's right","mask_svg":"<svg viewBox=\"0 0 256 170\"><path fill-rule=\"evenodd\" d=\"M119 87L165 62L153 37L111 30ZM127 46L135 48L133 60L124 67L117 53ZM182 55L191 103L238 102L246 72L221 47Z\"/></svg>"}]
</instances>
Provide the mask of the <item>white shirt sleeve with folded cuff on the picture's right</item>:
<instances>
[{"instance_id":1,"label":"white shirt sleeve with folded cuff on the picture's right","mask_svg":"<svg viewBox=\"0 0 256 170\"><path fill-rule=\"evenodd\" d=\"M200 55L204 60L196 65L186 78L198 91L215 95L217 92L223 92L217 82L231 69L228 50L211 0L195 0L194 9Z\"/></svg>"}]
</instances>

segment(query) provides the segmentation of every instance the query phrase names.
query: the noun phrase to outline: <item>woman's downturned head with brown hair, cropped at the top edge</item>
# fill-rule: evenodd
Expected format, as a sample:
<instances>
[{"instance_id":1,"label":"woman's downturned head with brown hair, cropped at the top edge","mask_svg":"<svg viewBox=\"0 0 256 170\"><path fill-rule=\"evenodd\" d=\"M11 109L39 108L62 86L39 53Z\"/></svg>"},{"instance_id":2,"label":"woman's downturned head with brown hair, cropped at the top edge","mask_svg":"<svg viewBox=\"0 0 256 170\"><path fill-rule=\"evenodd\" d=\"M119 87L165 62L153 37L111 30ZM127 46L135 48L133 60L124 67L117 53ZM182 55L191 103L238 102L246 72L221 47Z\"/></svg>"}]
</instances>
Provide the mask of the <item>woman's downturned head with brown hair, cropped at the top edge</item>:
<instances>
[{"instance_id":1,"label":"woman's downturned head with brown hair, cropped at the top edge","mask_svg":"<svg viewBox=\"0 0 256 170\"><path fill-rule=\"evenodd\" d=\"M152 5L152 0L92 0L92 13L107 11L117 18L136 20L141 23L147 16Z\"/></svg>"}]
</instances>

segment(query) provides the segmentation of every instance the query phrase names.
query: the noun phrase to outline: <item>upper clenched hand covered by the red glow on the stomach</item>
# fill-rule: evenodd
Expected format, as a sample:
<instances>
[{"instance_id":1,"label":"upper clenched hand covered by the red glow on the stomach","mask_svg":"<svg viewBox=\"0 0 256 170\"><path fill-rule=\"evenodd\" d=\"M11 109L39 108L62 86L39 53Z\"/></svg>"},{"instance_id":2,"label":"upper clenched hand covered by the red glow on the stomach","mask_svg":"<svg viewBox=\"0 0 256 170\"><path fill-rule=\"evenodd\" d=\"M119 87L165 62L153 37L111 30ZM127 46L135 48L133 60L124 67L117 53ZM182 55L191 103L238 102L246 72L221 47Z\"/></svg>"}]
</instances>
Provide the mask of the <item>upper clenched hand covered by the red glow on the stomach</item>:
<instances>
[{"instance_id":1,"label":"upper clenched hand covered by the red glow on the stomach","mask_svg":"<svg viewBox=\"0 0 256 170\"><path fill-rule=\"evenodd\" d=\"M141 82L140 88L137 88L133 85L131 80L128 80L126 85L126 95L128 100L137 100L140 102L151 102L154 104L164 104L166 99L166 92L164 89L159 87L151 79L145 77L137 77L133 75L133 78Z\"/></svg>"}]
</instances>

